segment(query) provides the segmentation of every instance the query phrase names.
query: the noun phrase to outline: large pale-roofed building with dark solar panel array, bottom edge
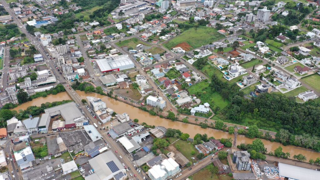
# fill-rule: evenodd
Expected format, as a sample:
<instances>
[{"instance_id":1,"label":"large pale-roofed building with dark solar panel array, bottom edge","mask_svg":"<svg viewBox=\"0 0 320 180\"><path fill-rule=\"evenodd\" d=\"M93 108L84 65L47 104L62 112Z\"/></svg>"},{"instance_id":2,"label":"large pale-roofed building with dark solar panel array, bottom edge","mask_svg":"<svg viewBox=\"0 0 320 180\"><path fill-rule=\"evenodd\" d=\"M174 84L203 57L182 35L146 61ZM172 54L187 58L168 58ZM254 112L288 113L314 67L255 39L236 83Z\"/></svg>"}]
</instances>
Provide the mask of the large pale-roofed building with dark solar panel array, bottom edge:
<instances>
[{"instance_id":1,"label":"large pale-roofed building with dark solar panel array, bottom edge","mask_svg":"<svg viewBox=\"0 0 320 180\"><path fill-rule=\"evenodd\" d=\"M110 180L115 176L121 176L122 180L128 176L124 166L112 151L104 152L90 159L89 164L94 169L94 173L86 176L85 180Z\"/></svg>"}]
</instances>

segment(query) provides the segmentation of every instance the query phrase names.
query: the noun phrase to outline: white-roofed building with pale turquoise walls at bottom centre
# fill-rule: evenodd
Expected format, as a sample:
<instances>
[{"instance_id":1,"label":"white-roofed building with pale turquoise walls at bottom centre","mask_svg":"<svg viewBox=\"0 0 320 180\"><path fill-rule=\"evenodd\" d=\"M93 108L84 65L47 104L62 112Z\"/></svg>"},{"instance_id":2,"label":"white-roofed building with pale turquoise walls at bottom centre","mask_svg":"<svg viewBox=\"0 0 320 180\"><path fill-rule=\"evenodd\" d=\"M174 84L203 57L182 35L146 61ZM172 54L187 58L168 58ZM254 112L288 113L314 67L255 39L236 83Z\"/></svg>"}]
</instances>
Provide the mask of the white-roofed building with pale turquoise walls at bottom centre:
<instances>
[{"instance_id":1,"label":"white-roofed building with pale turquoise walls at bottom centre","mask_svg":"<svg viewBox=\"0 0 320 180\"><path fill-rule=\"evenodd\" d=\"M179 164L169 158L150 168L148 175L151 180L164 180L176 175L178 172L180 172Z\"/></svg>"}]
</instances>

